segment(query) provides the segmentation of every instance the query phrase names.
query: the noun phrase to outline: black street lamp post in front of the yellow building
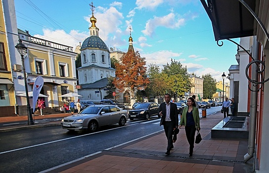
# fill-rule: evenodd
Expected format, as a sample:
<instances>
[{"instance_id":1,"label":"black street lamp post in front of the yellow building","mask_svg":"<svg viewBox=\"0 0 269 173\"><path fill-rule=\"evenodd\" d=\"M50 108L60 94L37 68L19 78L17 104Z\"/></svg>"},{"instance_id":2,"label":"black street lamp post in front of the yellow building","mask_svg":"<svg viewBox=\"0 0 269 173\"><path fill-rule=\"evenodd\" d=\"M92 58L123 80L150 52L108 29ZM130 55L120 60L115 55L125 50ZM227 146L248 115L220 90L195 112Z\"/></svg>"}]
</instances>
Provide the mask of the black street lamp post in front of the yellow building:
<instances>
[{"instance_id":1,"label":"black street lamp post in front of the yellow building","mask_svg":"<svg viewBox=\"0 0 269 173\"><path fill-rule=\"evenodd\" d=\"M24 85L25 85L25 92L26 92L26 100L27 100L27 113L28 113L28 125L34 125L35 122L32 117L31 106L29 104L29 95L28 95L28 88L26 82L26 73L25 73L25 66L24 66L24 55L27 52L27 47L22 43L22 40L19 39L19 43L15 46L22 58L22 69L23 69L23 76L24 76Z\"/></svg>"}]
</instances>

